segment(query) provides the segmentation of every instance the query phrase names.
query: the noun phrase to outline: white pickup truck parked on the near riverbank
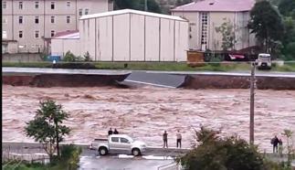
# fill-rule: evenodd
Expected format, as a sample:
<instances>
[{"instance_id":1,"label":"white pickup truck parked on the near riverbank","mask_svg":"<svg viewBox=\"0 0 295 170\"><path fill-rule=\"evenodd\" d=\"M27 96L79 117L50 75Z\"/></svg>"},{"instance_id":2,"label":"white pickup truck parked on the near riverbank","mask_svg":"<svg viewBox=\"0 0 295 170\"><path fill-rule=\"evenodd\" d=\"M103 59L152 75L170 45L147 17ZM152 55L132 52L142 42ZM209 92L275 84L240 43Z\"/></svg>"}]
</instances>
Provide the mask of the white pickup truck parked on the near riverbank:
<instances>
[{"instance_id":1,"label":"white pickup truck parked on the near riverbank","mask_svg":"<svg viewBox=\"0 0 295 170\"><path fill-rule=\"evenodd\" d=\"M100 155L108 153L141 155L145 152L146 144L133 141L126 134L111 134L108 139L94 139L90 149L98 150Z\"/></svg>"}]
</instances>

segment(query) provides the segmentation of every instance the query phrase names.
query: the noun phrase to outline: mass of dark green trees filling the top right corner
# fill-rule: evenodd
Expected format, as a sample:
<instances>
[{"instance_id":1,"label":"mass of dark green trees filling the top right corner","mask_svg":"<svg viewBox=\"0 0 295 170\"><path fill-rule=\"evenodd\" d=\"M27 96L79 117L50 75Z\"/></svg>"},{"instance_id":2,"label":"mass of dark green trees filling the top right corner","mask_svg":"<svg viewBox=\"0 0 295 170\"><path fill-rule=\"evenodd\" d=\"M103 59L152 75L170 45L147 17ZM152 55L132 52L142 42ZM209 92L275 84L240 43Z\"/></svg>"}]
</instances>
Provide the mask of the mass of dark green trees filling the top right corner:
<instances>
[{"instance_id":1,"label":"mass of dark green trees filling the top right corner","mask_svg":"<svg viewBox=\"0 0 295 170\"><path fill-rule=\"evenodd\" d=\"M265 52L286 60L295 59L294 0L258 1L250 11L248 28Z\"/></svg>"}]
</instances>

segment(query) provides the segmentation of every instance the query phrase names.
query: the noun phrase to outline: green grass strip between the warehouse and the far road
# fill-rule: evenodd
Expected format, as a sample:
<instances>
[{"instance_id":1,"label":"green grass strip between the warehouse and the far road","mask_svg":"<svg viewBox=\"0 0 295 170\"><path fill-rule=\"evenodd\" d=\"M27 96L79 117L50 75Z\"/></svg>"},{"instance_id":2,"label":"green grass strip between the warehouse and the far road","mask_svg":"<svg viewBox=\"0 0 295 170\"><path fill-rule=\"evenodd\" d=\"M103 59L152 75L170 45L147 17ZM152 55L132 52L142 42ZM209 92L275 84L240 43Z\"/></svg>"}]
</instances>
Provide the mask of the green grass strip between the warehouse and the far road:
<instances>
[{"instance_id":1,"label":"green grass strip between the warehouse and the far road","mask_svg":"<svg viewBox=\"0 0 295 170\"><path fill-rule=\"evenodd\" d=\"M186 63L176 62L129 62L128 66L124 67L124 62L96 62L93 63L96 69L134 69L134 70L169 70L169 71L235 71L249 70L250 65L247 63L222 63L222 64L205 64L202 67L191 68ZM3 67L25 67L25 68L51 68L50 62L3 62ZM282 67L273 65L272 71L295 71L295 63L286 63Z\"/></svg>"}]
</instances>

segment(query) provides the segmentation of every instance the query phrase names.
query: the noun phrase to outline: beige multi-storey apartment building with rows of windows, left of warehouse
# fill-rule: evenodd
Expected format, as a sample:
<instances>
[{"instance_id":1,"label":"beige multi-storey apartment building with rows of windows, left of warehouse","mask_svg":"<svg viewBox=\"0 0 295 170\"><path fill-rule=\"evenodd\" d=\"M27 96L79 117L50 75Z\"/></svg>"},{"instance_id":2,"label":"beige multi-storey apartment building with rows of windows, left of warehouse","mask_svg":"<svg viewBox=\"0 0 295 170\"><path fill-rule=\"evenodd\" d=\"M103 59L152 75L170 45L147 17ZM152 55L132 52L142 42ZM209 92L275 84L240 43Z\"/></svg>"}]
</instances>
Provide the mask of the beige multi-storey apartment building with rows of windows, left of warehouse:
<instances>
[{"instance_id":1,"label":"beige multi-storey apartment building with rows of windows, left of warehouse","mask_svg":"<svg viewBox=\"0 0 295 170\"><path fill-rule=\"evenodd\" d=\"M78 30L80 16L111 10L109 0L3 0L2 51L50 51L51 37Z\"/></svg>"}]
</instances>

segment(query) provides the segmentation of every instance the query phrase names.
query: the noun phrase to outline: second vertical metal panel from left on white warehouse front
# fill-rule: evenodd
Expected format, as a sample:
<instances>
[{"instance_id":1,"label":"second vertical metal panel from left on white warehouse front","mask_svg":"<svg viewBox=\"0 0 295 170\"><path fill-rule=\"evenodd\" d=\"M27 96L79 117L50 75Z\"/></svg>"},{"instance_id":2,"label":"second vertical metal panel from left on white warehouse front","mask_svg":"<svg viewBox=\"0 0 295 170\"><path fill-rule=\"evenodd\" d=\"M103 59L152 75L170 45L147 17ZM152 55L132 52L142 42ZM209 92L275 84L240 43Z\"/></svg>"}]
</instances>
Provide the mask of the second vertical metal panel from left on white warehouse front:
<instances>
[{"instance_id":1,"label":"second vertical metal panel from left on white warehouse front","mask_svg":"<svg viewBox=\"0 0 295 170\"><path fill-rule=\"evenodd\" d=\"M111 61L112 58L112 16L100 17L98 30L98 55L101 61Z\"/></svg>"}]
</instances>

